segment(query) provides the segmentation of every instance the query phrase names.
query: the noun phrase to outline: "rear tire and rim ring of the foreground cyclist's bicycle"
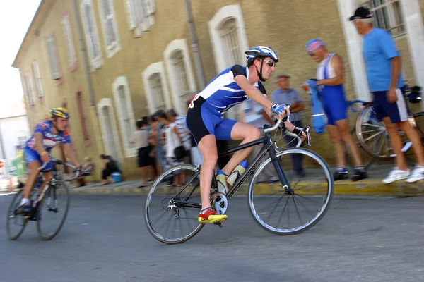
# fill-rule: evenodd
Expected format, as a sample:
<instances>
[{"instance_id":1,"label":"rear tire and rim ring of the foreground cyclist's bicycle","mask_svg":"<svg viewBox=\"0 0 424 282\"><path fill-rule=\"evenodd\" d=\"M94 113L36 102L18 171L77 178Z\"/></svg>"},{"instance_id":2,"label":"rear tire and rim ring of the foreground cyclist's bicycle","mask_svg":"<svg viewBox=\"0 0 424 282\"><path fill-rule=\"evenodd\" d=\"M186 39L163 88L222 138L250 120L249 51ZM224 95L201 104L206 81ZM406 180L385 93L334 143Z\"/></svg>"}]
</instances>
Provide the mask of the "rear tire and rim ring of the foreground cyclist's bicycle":
<instances>
[{"instance_id":1,"label":"rear tire and rim ring of the foreground cyclist's bicycle","mask_svg":"<svg viewBox=\"0 0 424 282\"><path fill-rule=\"evenodd\" d=\"M164 235L161 235L160 233L158 233L158 231L156 231L155 228L153 227L153 223L151 222L151 210L150 210L153 192L155 192L156 189L160 188L159 185L162 180L167 179L167 177L169 178L171 173L174 173L175 171L178 171L180 169L187 169L190 171L194 171L195 173L198 171L198 168L191 164L178 164L176 166L172 166L171 168L169 168L161 176L158 177L155 183L153 183L151 190L148 192L146 204L144 208L144 222L146 223L148 232L151 233L153 238L155 238L156 240L165 244L169 244L169 245L184 243L185 241L193 238L197 233L199 233L199 231L201 231L201 228L204 227L204 224L197 223L196 228L194 228L194 230L191 233L176 239L164 237ZM195 178L192 179L192 181L195 181L195 180L196 180ZM190 183L192 183L192 181L189 181L185 185L188 187ZM199 189L200 189L200 184L198 183L197 185L199 186ZM197 185L195 185L194 189L196 189ZM196 222L197 222L197 219L196 219Z\"/></svg>"}]
</instances>

